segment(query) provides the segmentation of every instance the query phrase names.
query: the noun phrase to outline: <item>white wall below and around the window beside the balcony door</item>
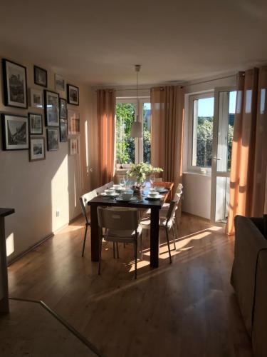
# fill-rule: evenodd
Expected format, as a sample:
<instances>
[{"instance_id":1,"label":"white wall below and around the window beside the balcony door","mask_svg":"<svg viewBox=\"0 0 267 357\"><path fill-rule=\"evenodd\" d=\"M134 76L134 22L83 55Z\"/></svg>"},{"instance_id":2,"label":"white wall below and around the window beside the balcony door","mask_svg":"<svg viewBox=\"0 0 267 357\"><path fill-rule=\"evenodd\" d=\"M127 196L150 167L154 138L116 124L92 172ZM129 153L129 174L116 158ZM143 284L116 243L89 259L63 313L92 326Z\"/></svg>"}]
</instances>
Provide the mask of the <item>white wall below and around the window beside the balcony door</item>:
<instances>
[{"instance_id":1,"label":"white wall below and around the window beside the balcony door","mask_svg":"<svg viewBox=\"0 0 267 357\"><path fill-rule=\"evenodd\" d=\"M224 79L206 79L202 83L196 81L184 85L184 149L183 149L183 183L184 201L182 211L192 213L203 218L210 218L211 211L211 176L195 174L187 169L188 161L188 137L189 137L189 95L202 93L204 91L214 91L216 87L235 86L236 76L229 76Z\"/></svg>"}]
</instances>

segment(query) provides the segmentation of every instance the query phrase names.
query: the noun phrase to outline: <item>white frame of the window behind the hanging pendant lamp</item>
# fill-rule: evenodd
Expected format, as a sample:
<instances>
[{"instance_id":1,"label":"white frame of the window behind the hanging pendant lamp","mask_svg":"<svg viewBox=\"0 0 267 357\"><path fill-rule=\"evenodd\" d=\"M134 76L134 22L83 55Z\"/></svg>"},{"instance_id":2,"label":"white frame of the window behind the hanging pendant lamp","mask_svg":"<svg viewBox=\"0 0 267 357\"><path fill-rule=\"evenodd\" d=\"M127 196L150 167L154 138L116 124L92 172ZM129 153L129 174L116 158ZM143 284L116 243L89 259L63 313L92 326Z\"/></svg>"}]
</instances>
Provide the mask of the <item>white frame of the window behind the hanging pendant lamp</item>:
<instances>
[{"instance_id":1,"label":"white frame of the window behind the hanging pendant lamp","mask_svg":"<svg viewBox=\"0 0 267 357\"><path fill-rule=\"evenodd\" d=\"M135 119L136 119L136 109L137 109L137 100L136 97L117 97L116 104L122 103L131 103L135 106ZM151 103L150 96L140 96L138 97L138 121L142 123L143 130L143 116L142 116L142 107L144 103ZM116 124L115 124L116 125ZM116 126L115 126L115 150L116 150ZM135 164L138 164L143 161L143 138L135 138ZM115 151L115 162L117 160L117 152ZM123 169L130 169L131 164L122 164ZM120 169L120 164L115 165L116 169Z\"/></svg>"}]
</instances>

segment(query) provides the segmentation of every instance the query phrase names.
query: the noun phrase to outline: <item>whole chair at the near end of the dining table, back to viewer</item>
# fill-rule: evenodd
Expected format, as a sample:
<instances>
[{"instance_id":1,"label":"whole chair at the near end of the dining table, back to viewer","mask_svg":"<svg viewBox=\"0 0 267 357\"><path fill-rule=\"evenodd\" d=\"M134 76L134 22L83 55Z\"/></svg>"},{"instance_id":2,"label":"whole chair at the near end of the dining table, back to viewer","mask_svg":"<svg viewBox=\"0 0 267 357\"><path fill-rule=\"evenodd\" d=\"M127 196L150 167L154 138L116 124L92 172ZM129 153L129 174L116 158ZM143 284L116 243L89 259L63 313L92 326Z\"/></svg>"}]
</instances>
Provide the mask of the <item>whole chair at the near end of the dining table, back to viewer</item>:
<instances>
[{"instance_id":1,"label":"whole chair at the near end of the dining table, back to viewer","mask_svg":"<svg viewBox=\"0 0 267 357\"><path fill-rule=\"evenodd\" d=\"M138 226L137 208L117 207L104 208L98 206L98 226L100 226L102 237L99 247L99 266L98 274L101 269L101 251L102 241L111 241L114 243L133 243L135 256L135 279L137 278L137 241L142 229ZM103 229L104 228L104 229Z\"/></svg>"}]
</instances>

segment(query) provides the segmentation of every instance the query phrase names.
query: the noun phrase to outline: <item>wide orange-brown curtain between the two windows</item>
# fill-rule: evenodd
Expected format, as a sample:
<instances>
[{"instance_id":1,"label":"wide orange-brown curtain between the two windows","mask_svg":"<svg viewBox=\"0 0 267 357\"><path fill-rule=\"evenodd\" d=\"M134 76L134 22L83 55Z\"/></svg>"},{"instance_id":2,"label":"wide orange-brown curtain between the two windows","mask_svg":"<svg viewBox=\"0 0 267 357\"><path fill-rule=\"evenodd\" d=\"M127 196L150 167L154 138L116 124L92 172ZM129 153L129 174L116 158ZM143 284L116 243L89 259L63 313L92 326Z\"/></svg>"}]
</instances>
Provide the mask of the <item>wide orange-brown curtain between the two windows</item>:
<instances>
[{"instance_id":1,"label":"wide orange-brown curtain between the two windows","mask_svg":"<svg viewBox=\"0 0 267 357\"><path fill-rule=\"evenodd\" d=\"M151 162L164 171L163 181L182 182L184 90L180 86L151 89Z\"/></svg>"}]
</instances>

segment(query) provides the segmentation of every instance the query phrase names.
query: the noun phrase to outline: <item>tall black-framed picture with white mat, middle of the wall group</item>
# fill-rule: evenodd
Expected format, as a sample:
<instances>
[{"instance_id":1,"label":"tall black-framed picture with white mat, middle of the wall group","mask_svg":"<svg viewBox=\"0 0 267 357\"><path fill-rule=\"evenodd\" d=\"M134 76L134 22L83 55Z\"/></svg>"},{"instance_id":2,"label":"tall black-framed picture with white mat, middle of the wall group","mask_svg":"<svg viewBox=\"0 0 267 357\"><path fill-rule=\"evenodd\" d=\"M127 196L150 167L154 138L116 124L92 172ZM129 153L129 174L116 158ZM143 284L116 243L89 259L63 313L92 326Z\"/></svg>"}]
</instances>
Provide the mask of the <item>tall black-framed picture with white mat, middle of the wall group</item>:
<instances>
[{"instance_id":1,"label":"tall black-framed picture with white mat, middle of the wall group","mask_svg":"<svg viewBox=\"0 0 267 357\"><path fill-rule=\"evenodd\" d=\"M43 91L46 126L59 126L59 95L54 91Z\"/></svg>"}]
</instances>

